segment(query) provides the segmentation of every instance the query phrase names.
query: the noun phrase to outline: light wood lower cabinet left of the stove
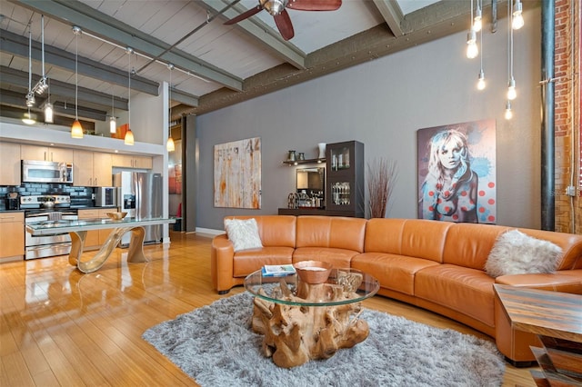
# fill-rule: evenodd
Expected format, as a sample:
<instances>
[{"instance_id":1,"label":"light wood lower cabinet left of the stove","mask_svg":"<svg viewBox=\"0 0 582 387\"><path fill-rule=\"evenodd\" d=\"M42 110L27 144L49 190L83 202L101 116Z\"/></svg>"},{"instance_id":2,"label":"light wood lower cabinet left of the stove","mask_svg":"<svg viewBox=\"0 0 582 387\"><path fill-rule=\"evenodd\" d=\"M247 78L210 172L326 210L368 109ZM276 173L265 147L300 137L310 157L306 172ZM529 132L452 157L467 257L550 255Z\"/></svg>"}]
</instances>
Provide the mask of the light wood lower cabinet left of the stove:
<instances>
[{"instance_id":1,"label":"light wood lower cabinet left of the stove","mask_svg":"<svg viewBox=\"0 0 582 387\"><path fill-rule=\"evenodd\" d=\"M0 213L0 262L25 257L25 213Z\"/></svg>"}]
</instances>

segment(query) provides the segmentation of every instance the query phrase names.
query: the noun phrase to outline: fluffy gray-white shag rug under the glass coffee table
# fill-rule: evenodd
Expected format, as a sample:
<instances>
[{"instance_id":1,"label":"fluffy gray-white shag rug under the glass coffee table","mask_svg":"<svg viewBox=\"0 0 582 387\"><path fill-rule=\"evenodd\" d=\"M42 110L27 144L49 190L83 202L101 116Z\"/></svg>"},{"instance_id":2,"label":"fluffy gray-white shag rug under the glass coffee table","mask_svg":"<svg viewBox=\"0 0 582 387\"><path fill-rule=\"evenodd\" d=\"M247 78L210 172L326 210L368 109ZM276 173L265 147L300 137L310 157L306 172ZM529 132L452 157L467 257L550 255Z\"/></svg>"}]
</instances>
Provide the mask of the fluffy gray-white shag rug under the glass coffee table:
<instances>
[{"instance_id":1,"label":"fluffy gray-white shag rug under the glass coffee table","mask_svg":"<svg viewBox=\"0 0 582 387\"><path fill-rule=\"evenodd\" d=\"M330 359L279 368L250 327L240 293L160 323L143 338L203 387L500 386L505 362L492 342L366 309L365 342Z\"/></svg>"}]
</instances>

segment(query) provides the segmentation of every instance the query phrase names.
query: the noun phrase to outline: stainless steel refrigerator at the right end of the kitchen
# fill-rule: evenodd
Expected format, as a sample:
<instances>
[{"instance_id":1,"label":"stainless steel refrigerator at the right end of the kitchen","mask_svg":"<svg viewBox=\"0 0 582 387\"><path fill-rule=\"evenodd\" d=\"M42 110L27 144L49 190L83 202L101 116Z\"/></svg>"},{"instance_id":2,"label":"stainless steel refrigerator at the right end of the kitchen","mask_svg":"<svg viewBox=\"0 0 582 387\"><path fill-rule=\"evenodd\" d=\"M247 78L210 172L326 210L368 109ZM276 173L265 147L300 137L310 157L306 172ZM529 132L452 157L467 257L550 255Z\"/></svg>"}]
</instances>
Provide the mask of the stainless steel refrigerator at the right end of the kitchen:
<instances>
[{"instance_id":1,"label":"stainless steel refrigerator at the right end of the kitchen","mask_svg":"<svg viewBox=\"0 0 582 387\"><path fill-rule=\"evenodd\" d=\"M162 174L148 172L120 172L114 174L114 185L118 187L117 203L120 211L136 219L159 218L162 216ZM162 241L162 225L144 227L146 235L144 243L160 243ZM129 245L131 233L125 233L121 240L122 246Z\"/></svg>"}]
</instances>

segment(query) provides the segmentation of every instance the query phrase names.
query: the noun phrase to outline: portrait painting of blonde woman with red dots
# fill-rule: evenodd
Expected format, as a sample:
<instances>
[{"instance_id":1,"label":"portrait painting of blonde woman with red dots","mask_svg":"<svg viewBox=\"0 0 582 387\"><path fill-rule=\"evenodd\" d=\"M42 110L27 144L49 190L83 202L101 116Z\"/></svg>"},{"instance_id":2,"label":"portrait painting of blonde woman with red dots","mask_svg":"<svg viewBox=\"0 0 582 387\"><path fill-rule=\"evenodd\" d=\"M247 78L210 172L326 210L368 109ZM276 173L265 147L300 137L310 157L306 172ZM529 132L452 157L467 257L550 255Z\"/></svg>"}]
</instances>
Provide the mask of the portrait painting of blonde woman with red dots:
<instances>
[{"instance_id":1,"label":"portrait painting of blonde woman with red dots","mask_svg":"<svg viewBox=\"0 0 582 387\"><path fill-rule=\"evenodd\" d=\"M495 121L418 131L418 217L495 223Z\"/></svg>"}]
</instances>

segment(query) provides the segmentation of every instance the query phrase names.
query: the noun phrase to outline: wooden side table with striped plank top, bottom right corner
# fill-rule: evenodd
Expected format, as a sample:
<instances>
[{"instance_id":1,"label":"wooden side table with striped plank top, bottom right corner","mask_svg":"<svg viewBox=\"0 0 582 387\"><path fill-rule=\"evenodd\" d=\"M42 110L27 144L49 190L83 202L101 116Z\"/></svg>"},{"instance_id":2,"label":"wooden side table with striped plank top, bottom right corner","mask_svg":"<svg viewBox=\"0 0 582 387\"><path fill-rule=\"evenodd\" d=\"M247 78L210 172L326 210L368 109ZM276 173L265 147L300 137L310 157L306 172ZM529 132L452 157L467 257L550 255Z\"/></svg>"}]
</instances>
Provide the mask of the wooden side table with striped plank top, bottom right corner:
<instances>
[{"instance_id":1,"label":"wooden side table with striped plank top, bottom right corner","mask_svg":"<svg viewBox=\"0 0 582 387\"><path fill-rule=\"evenodd\" d=\"M544 348L531 347L542 372L538 386L582 387L582 295L494 285L511 326L536 333Z\"/></svg>"}]
</instances>

